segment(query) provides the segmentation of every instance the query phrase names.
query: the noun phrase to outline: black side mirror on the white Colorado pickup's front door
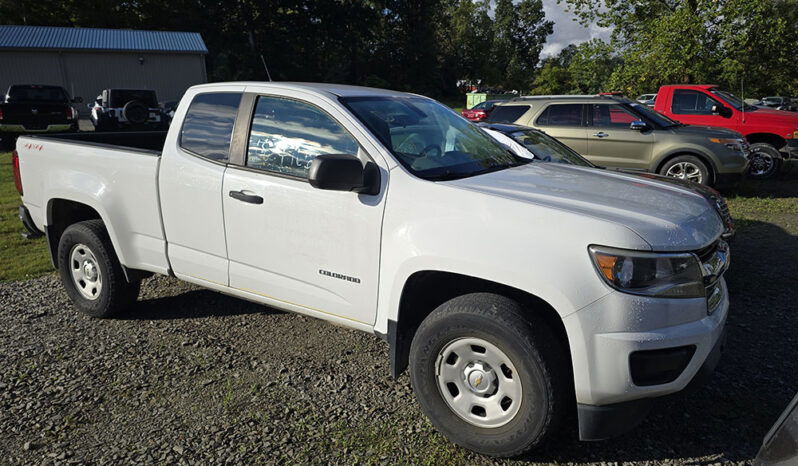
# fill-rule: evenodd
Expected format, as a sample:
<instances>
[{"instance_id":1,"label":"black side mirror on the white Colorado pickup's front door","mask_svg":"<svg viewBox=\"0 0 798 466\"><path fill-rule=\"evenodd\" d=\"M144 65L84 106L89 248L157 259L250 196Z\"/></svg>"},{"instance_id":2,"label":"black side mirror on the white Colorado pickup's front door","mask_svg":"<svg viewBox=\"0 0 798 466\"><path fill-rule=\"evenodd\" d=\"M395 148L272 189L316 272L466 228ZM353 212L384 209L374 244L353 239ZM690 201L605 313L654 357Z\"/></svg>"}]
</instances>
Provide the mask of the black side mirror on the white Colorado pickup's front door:
<instances>
[{"instance_id":1,"label":"black side mirror on the white Colorado pickup's front door","mask_svg":"<svg viewBox=\"0 0 798 466\"><path fill-rule=\"evenodd\" d=\"M380 172L372 162L364 167L354 155L325 154L310 163L308 182L316 189L373 195L380 190Z\"/></svg>"}]
</instances>

